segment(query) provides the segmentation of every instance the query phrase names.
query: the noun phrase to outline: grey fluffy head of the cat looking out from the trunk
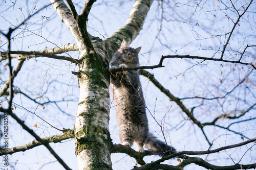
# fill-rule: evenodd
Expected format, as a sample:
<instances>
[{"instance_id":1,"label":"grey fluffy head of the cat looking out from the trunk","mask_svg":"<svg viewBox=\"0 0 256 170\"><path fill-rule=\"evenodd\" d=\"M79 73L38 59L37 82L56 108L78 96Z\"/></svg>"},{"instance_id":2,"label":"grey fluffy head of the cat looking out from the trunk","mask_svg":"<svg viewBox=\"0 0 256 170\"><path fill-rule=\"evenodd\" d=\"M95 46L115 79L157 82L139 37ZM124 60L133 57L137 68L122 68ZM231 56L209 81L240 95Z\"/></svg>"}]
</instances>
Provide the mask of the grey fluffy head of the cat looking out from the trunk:
<instances>
[{"instance_id":1,"label":"grey fluffy head of the cat looking out from the trunk","mask_svg":"<svg viewBox=\"0 0 256 170\"><path fill-rule=\"evenodd\" d=\"M140 52L141 46L134 49L130 46L127 46L127 42L123 40L120 48L113 57L112 64L126 64L129 67L138 66L139 58L138 54Z\"/></svg>"}]
</instances>

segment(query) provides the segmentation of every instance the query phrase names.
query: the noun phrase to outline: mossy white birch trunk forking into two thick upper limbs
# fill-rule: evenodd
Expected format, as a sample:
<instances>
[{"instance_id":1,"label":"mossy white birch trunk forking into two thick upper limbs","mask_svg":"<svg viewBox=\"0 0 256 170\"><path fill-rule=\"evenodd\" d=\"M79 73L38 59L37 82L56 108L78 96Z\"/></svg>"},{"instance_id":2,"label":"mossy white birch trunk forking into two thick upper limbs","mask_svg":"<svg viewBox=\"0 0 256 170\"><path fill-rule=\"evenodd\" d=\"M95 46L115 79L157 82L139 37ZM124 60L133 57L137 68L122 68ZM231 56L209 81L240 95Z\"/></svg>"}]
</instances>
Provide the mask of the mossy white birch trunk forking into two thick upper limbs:
<instances>
[{"instance_id":1,"label":"mossy white birch trunk forking into two thick upper limbs","mask_svg":"<svg viewBox=\"0 0 256 170\"><path fill-rule=\"evenodd\" d=\"M79 18L74 19L63 1L51 0L62 21L74 36L81 60L77 73L80 96L74 127L78 169L112 169L110 160L112 141L109 132L109 61L123 39L132 42L142 29L152 0L136 1L124 27L102 41L89 36ZM72 2L70 5L73 7ZM77 16L77 15L76 15ZM79 16L80 17L80 16ZM79 22L78 24L76 22ZM84 23L84 27L86 24ZM79 30L83 32L79 33ZM91 41L91 42L90 42ZM92 46L87 46L92 43Z\"/></svg>"}]
</instances>

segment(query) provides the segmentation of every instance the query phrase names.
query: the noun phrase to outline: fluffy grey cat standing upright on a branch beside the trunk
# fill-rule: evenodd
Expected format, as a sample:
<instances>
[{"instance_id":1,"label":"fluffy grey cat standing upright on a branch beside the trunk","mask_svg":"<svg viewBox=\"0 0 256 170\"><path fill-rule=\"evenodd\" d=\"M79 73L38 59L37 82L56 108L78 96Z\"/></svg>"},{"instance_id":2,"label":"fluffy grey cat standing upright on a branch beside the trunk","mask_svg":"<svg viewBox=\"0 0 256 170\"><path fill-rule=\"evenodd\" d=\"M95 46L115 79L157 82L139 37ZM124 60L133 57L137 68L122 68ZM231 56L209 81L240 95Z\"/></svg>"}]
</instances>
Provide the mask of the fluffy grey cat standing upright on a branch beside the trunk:
<instances>
[{"instance_id":1,"label":"fluffy grey cat standing upright on a branch beside the trunk","mask_svg":"<svg viewBox=\"0 0 256 170\"><path fill-rule=\"evenodd\" d=\"M111 69L139 66L140 48L127 46L125 40L111 61ZM143 145L156 155L170 155L176 150L148 132L148 122L138 70L116 72L111 75L119 138L123 145L131 147L135 142L137 152L144 152Z\"/></svg>"}]
</instances>

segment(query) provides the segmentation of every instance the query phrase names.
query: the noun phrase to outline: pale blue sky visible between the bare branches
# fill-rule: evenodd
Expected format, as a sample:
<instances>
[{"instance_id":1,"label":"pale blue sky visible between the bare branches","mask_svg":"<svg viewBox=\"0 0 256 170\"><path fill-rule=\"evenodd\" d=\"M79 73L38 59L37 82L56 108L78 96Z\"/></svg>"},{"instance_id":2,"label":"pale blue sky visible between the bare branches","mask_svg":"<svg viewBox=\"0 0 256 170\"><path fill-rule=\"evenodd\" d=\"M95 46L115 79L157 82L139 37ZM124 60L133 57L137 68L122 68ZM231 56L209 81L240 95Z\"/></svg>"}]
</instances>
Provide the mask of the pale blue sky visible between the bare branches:
<instances>
[{"instance_id":1,"label":"pale blue sky visible between the bare branches","mask_svg":"<svg viewBox=\"0 0 256 170\"><path fill-rule=\"evenodd\" d=\"M111 36L124 25L133 3L134 1L97 1L89 15L89 33L101 39ZM139 56L140 65L155 65L162 55L220 56L223 43L237 18L236 11L227 8L230 5L228 2L182 1L177 3L164 1L163 6L158 3L158 1L154 1L140 35L131 44L134 48L142 46ZM199 3L198 6L196 3ZM74 1L74 4L79 13L82 9L82 1ZM241 4L246 4L246 2L239 1L234 6L241 7ZM0 3L0 22L3 23L0 30L6 33L9 27L15 27L29 14L33 14L45 5L44 1L3 1ZM225 59L237 59L247 44L255 45L256 25L253 20L255 14L252 10L254 7L255 2L248 10L248 14L240 19L240 26L234 30L234 36L231 37L230 45L227 46ZM242 7L239 12L243 12ZM3 35L0 35L0 41L0 51L4 52L7 50L7 44ZM75 40L54 9L48 6L13 33L11 50L37 51L67 43L75 43ZM78 52L68 52L68 54L79 58ZM255 62L255 54L255 48L248 48L243 61ZM15 66L17 60L13 59L12 61ZM8 78L6 63L7 61L0 62L1 88ZM155 78L175 96L181 99L188 98L182 102L189 109L195 107L195 116L203 123L210 122L216 116L227 112L231 115L239 114L241 110L245 110L255 103L255 70L253 71L250 66L178 58L165 59L163 64L165 65L163 68L148 71L154 74ZM71 71L76 70L78 67L67 61L33 58L26 60L22 70L15 78L15 88L30 95L36 102L55 101L45 104L43 109L43 106L29 100L25 95L15 95L16 109L14 113L22 118L40 137L60 132L50 128L36 115L46 119L48 123L59 129L73 129L79 87L77 78L71 74ZM245 83L234 88L251 70ZM178 151L208 150L209 145L202 132L187 120L187 116L182 113L181 109L174 102L169 101L167 96L161 93L147 78L140 76L140 81L146 101L150 131L161 138L161 129L156 120L161 123L165 116L164 134L168 138L167 141L172 141ZM189 99L193 96L215 98L230 91L232 94L219 100ZM40 96L42 97L40 98ZM1 98L0 100L5 107L5 99ZM156 115L156 120L151 114ZM239 120L253 117L255 117L255 109ZM10 147L34 140L13 119L9 118L9 120ZM234 122L221 119L218 123L227 126ZM37 125L37 128L34 125ZM255 137L255 122L252 120L244 124L234 124L232 130L249 138ZM119 143L113 103L110 108L110 132L113 143ZM212 149L243 141L240 135L218 127L205 127L205 133L214 143ZM62 143L51 143L51 146L72 169L77 169L74 139L68 139ZM202 158L213 164L232 164L233 161L237 163L246 150L246 147L239 148L220 154L202 156ZM217 155L219 159L215 159ZM150 156L145 157L144 160L151 162L158 158ZM121 169L131 169L136 165L136 161L125 154L112 154L111 159L113 169L120 169L120 167ZM245 164L255 162L255 154L248 150L241 162ZM168 160L165 163L177 165L178 161ZM13 169L62 168L42 146L11 155L10 164L10 168ZM195 165L189 165L185 169L194 167ZM200 169L200 167L196 167Z\"/></svg>"}]
</instances>

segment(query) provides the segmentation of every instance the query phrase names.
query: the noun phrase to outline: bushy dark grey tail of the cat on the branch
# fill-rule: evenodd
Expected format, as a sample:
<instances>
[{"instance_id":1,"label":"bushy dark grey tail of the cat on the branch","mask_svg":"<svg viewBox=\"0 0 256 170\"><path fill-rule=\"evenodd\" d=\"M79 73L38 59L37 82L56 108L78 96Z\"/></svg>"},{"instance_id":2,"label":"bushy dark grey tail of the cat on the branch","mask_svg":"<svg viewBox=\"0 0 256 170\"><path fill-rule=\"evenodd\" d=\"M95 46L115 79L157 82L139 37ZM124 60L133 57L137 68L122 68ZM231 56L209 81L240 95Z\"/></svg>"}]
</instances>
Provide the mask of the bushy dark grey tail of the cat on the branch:
<instances>
[{"instance_id":1,"label":"bushy dark grey tail of the cat on the branch","mask_svg":"<svg viewBox=\"0 0 256 170\"><path fill-rule=\"evenodd\" d=\"M165 142L158 140L156 136L148 133L144 142L144 147L153 155L167 156L176 152L176 150Z\"/></svg>"}]
</instances>

